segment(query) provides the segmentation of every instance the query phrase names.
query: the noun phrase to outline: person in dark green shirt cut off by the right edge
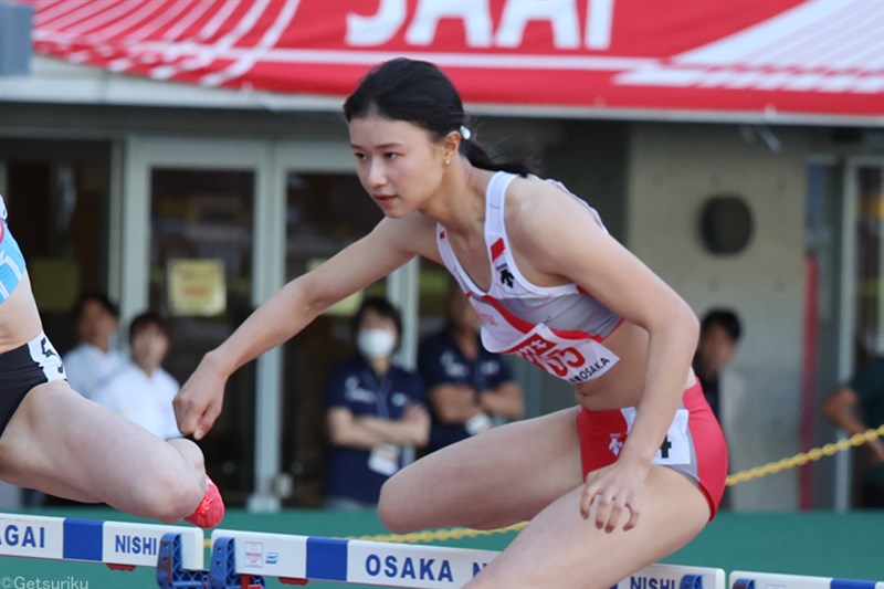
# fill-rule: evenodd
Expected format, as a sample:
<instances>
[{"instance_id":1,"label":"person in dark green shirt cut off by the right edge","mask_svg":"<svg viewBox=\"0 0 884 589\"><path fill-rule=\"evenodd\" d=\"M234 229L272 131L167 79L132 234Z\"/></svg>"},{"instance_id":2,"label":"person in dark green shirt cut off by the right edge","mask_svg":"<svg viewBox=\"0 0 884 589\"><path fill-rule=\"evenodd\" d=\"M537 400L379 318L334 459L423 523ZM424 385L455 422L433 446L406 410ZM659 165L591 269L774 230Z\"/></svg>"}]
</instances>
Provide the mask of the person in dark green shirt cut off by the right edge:
<instances>
[{"instance_id":1,"label":"person in dark green shirt cut off by the right edge","mask_svg":"<svg viewBox=\"0 0 884 589\"><path fill-rule=\"evenodd\" d=\"M839 386L822 406L832 423L853 435L884 423L884 356L865 364L849 382ZM860 505L884 508L884 441L864 444L867 463Z\"/></svg>"}]
</instances>

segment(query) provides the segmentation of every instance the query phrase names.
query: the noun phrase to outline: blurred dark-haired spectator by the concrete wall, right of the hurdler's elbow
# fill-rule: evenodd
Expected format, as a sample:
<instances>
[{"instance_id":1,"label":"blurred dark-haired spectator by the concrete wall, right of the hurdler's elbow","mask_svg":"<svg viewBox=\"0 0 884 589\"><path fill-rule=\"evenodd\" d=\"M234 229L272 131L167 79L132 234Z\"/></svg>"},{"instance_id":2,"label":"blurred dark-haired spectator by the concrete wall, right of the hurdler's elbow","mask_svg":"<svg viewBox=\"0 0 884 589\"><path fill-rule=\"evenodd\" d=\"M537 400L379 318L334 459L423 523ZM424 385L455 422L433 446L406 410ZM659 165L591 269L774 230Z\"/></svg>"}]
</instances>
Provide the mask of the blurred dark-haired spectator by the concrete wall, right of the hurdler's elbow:
<instances>
[{"instance_id":1,"label":"blurred dark-haired spectator by the concrete wall, right of the hurdler's elbow","mask_svg":"<svg viewBox=\"0 0 884 589\"><path fill-rule=\"evenodd\" d=\"M734 391L743 388L736 375L724 370L737 349L741 333L739 317L726 308L707 312L699 324L699 341L693 364L694 374L699 378L706 401L719 422L723 422L722 398L725 398L724 404L727 404L727 397L738 395Z\"/></svg>"}]
</instances>

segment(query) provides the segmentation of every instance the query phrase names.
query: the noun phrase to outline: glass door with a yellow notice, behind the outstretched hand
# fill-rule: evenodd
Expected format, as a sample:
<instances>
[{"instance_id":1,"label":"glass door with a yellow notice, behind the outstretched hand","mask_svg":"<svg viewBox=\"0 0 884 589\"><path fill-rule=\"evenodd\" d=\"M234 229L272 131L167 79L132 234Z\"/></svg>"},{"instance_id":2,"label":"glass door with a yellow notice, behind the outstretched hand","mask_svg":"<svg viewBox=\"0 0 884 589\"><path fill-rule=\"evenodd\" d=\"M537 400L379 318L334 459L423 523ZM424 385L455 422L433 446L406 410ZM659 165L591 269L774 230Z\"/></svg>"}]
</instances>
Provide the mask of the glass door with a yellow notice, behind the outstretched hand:
<instances>
[{"instance_id":1,"label":"glass door with a yellow notice, behind the outstretched hand","mask_svg":"<svg viewBox=\"0 0 884 589\"><path fill-rule=\"evenodd\" d=\"M171 348L164 367L179 382L249 316L257 282L272 273L256 269L267 248L256 220L270 196L262 185L269 160L262 143L134 137L127 145L123 320L147 309L168 319ZM200 442L230 506L246 505L259 486L262 364L233 375L224 410Z\"/></svg>"}]
</instances>

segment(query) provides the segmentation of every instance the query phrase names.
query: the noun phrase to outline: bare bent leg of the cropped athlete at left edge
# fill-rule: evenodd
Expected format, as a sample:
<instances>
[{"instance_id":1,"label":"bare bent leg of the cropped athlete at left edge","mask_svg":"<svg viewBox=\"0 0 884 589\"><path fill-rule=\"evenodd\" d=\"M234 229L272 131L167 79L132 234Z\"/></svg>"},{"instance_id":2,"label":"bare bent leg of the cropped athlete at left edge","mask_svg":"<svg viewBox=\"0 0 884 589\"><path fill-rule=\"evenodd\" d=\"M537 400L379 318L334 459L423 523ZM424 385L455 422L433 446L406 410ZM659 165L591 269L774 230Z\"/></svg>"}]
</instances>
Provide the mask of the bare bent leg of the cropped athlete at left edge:
<instances>
[{"instance_id":1,"label":"bare bent leg of the cropped athlete at left edge","mask_svg":"<svg viewBox=\"0 0 884 589\"><path fill-rule=\"evenodd\" d=\"M167 523L190 515L206 493L194 443L165 442L65 382L25 396L0 437L0 477Z\"/></svg>"}]
</instances>

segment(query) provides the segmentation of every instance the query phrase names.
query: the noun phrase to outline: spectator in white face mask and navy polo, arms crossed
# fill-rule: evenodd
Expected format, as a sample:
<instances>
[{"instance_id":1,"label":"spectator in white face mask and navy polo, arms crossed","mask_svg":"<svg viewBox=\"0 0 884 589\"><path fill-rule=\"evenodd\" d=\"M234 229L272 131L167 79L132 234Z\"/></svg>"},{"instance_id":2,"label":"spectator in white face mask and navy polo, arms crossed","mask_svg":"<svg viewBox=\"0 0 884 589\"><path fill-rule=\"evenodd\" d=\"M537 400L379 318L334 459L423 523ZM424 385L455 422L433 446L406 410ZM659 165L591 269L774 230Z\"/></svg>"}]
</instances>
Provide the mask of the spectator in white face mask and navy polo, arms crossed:
<instances>
[{"instance_id":1,"label":"spectator in white face mask and navy polo, arms crossed","mask_svg":"<svg viewBox=\"0 0 884 589\"><path fill-rule=\"evenodd\" d=\"M329 372L324 409L329 451L325 506L377 506L380 487L403 463L402 446L422 446L430 431L420 377L392 364L402 323L382 297L354 316L356 358Z\"/></svg>"}]
</instances>

